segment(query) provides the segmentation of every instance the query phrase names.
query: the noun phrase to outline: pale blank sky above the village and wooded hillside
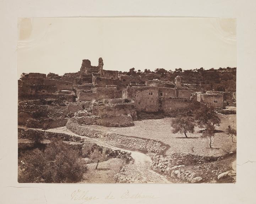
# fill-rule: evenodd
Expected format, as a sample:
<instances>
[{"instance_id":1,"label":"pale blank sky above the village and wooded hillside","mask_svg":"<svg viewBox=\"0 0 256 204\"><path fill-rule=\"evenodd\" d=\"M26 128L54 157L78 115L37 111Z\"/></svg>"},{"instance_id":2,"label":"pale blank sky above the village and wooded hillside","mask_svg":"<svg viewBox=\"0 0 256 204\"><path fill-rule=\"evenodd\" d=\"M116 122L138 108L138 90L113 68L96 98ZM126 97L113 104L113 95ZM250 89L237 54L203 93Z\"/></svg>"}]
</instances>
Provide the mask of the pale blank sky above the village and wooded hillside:
<instances>
[{"instance_id":1,"label":"pale blank sky above the village and wooded hillside","mask_svg":"<svg viewBox=\"0 0 256 204\"><path fill-rule=\"evenodd\" d=\"M223 18L22 18L18 76L80 70L82 60L129 71L236 67L236 20Z\"/></svg>"}]
</instances>

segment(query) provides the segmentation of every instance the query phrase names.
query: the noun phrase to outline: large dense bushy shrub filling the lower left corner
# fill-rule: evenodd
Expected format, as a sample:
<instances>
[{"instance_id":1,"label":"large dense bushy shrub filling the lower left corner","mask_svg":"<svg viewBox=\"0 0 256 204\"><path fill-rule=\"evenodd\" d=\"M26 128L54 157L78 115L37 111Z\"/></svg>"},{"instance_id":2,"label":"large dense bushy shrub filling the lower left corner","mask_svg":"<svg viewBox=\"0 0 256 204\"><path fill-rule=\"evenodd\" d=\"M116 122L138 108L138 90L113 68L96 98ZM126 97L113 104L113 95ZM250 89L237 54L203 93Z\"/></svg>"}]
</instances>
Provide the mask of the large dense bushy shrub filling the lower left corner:
<instances>
[{"instance_id":1,"label":"large dense bushy shrub filling the lower left corner","mask_svg":"<svg viewBox=\"0 0 256 204\"><path fill-rule=\"evenodd\" d=\"M70 149L60 138L52 141L44 152L34 149L23 154L19 168L21 183L75 183L87 169L78 151Z\"/></svg>"}]
</instances>

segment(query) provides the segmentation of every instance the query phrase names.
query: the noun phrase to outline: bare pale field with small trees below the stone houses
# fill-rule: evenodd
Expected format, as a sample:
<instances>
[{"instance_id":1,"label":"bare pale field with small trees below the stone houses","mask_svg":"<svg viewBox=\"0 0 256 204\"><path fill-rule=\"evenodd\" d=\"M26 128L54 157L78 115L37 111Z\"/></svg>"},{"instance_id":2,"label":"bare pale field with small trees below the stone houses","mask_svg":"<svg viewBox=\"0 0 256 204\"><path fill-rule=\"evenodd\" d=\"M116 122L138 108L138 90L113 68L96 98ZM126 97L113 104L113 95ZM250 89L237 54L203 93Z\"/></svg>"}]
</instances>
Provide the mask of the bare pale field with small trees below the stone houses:
<instances>
[{"instance_id":1,"label":"bare pale field with small trees below the stone houses","mask_svg":"<svg viewBox=\"0 0 256 204\"><path fill-rule=\"evenodd\" d=\"M207 157L223 156L225 152L222 148L225 144L232 146L232 151L236 148L236 143L231 142L231 138L226 134L228 125L236 128L236 115L219 115L221 124L215 137L212 139L212 147L209 148L209 139L201 138L202 129L195 128L194 134L187 134L190 139L183 139L184 134L173 134L171 122L173 118L152 119L134 121L135 125L126 128L109 128L98 125L90 125L91 128L103 130L106 132L114 132L125 136L136 136L161 141L170 146L166 154L171 153L191 153Z\"/></svg>"}]
</instances>

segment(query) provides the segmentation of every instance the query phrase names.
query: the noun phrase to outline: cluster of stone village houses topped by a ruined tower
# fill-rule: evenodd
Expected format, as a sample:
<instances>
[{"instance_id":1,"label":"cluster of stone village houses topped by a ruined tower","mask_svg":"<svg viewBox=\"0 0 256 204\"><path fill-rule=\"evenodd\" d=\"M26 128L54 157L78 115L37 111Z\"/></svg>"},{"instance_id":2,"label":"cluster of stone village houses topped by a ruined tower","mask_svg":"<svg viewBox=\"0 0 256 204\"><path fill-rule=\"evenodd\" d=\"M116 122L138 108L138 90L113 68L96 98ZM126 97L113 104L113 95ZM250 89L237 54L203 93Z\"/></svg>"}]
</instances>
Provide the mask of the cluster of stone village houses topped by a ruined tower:
<instances>
[{"instance_id":1,"label":"cluster of stone village houses topped by a ruined tower","mask_svg":"<svg viewBox=\"0 0 256 204\"><path fill-rule=\"evenodd\" d=\"M65 126L68 118L83 124L110 127L134 125L137 112L166 116L186 111L197 101L219 108L235 103L235 93L206 91L197 84L147 80L104 70L103 60L92 66L83 60L80 71L63 76L23 74L18 80L18 124L29 128Z\"/></svg>"}]
</instances>

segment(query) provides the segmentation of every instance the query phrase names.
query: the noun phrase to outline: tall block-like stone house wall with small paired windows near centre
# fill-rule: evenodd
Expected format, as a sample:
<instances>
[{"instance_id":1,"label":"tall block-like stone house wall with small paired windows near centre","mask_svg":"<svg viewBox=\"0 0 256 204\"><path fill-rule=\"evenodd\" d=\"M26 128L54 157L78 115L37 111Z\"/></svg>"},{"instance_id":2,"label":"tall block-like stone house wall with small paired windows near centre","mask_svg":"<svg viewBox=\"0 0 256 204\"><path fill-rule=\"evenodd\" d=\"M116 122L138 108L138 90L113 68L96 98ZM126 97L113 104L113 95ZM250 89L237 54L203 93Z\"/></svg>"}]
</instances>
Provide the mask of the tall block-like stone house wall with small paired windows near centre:
<instances>
[{"instance_id":1,"label":"tall block-like stone house wall with small paired windows near centre","mask_svg":"<svg viewBox=\"0 0 256 204\"><path fill-rule=\"evenodd\" d=\"M158 87L127 87L123 90L122 97L134 100L137 111L158 111Z\"/></svg>"}]
</instances>

